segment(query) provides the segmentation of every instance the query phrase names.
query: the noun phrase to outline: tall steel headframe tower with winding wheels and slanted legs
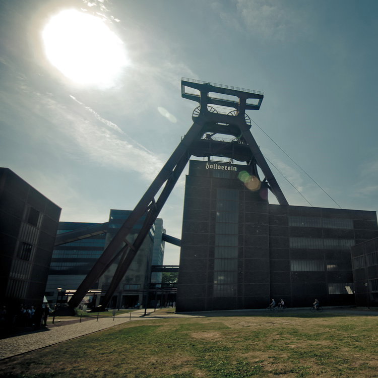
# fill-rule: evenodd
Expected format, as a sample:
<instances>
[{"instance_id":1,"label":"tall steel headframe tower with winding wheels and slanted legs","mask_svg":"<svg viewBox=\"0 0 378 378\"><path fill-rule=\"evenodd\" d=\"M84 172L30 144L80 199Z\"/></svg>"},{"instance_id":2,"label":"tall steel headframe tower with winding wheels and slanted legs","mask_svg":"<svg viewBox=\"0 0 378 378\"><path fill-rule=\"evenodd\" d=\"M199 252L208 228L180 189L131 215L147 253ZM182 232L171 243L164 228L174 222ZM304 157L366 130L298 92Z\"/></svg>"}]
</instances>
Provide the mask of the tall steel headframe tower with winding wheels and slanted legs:
<instances>
[{"instance_id":1,"label":"tall steel headframe tower with winding wheels and slanted legs","mask_svg":"<svg viewBox=\"0 0 378 378\"><path fill-rule=\"evenodd\" d=\"M230 161L235 159L246 162L253 167L252 171L258 178L257 167L259 166L265 175L263 181L267 183L279 204L288 205L259 146L250 133L251 122L248 115L245 114L245 110L260 109L264 98L263 92L182 78L181 96L199 103L199 106L193 111L192 127L182 138L129 218L119 228L72 296L69 301L71 308L80 304L91 285L118 259L115 274L101 302L102 307L105 308L138 253L191 155L209 159L211 156L219 156L229 158ZM227 109L227 111L220 112L217 108ZM219 140L219 138L213 139L216 134L232 136L233 140L230 142L224 139ZM159 192L160 195L155 200L155 196ZM129 242L127 236L144 215L146 218L141 231L133 242Z\"/></svg>"}]
</instances>

